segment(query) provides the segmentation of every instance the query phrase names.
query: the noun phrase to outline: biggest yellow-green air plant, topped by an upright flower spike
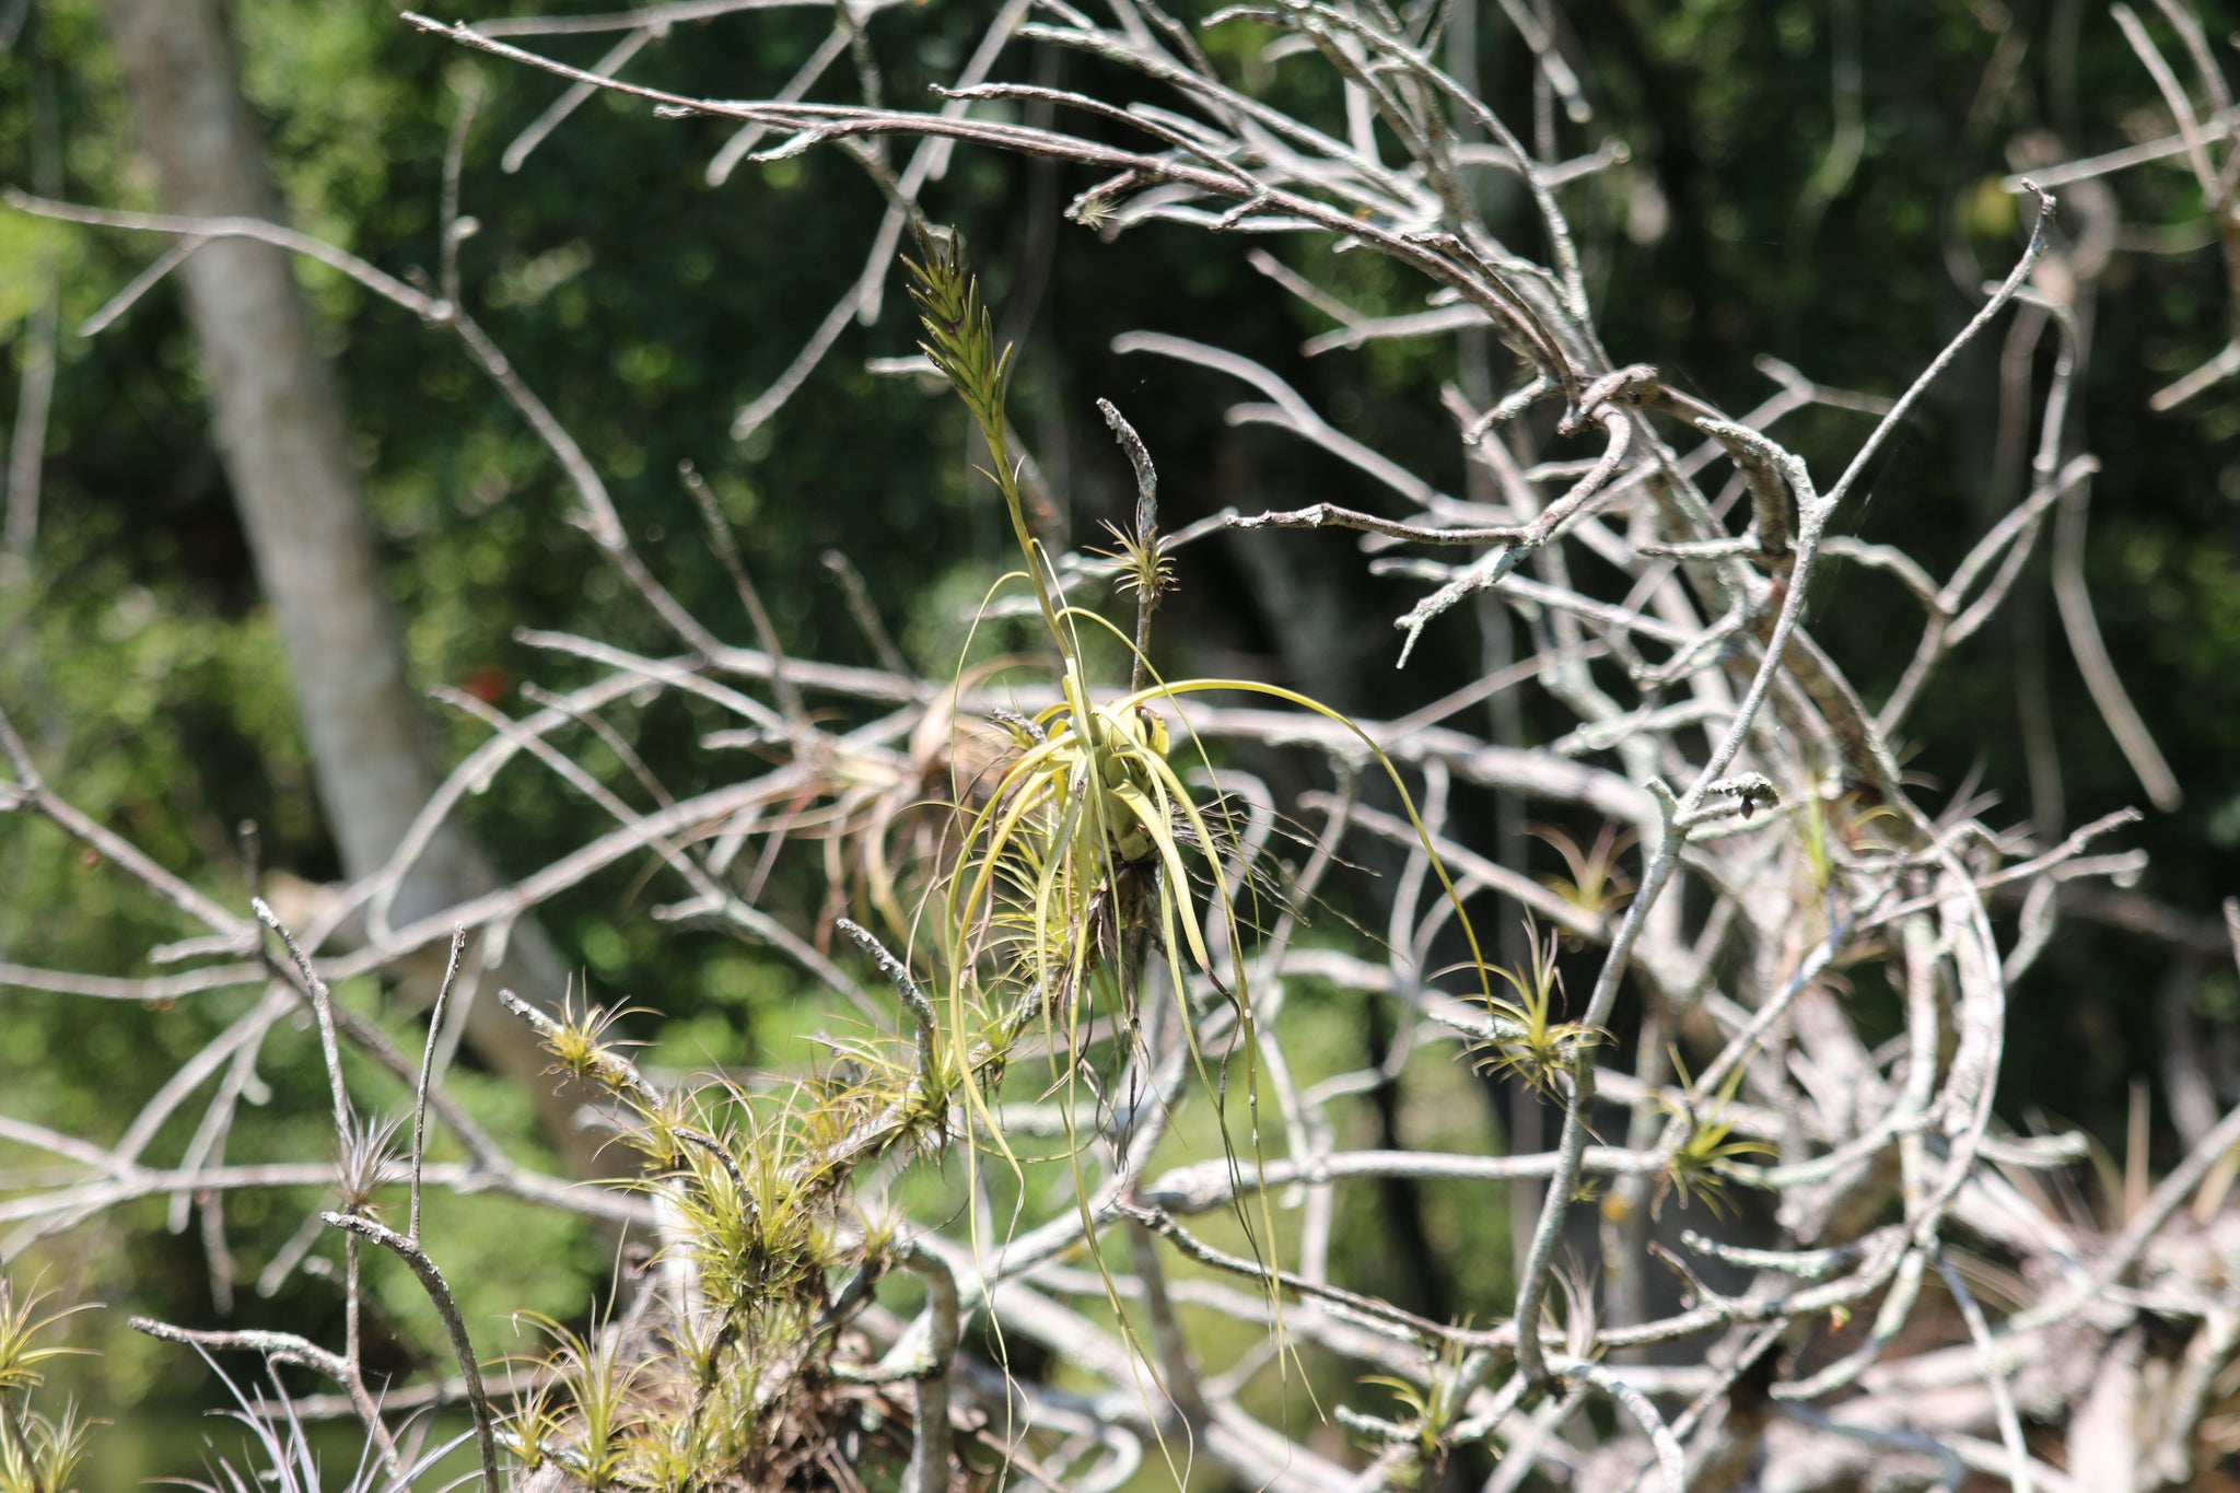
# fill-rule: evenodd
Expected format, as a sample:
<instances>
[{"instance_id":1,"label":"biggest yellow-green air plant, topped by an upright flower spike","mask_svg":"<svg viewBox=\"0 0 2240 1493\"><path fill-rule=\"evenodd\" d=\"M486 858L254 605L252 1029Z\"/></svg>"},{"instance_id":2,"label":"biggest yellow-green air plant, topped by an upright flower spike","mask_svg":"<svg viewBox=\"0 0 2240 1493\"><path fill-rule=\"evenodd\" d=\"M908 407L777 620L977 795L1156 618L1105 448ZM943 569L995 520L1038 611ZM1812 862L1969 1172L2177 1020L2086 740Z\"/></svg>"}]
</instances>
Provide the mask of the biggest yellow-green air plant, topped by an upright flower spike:
<instances>
[{"instance_id":1,"label":"biggest yellow-green air plant, topped by an upright flower spike","mask_svg":"<svg viewBox=\"0 0 2240 1493\"><path fill-rule=\"evenodd\" d=\"M1012 1001L1028 998L1064 1036L1060 1050L1073 1054L1089 1014L1086 996L1109 989L1124 1005L1131 1003L1140 974L1136 951L1149 945L1165 958L1178 998L1187 1003L1194 971L1232 1005L1239 1050L1250 1065L1252 996L1241 956L1243 920L1234 907L1245 886L1234 884L1225 864L1234 835L1219 799L1201 804L1176 770L1167 716L1180 716L1185 696L1225 689L1279 698L1348 727L1353 723L1297 692L1239 678L1151 678L1118 698L1098 698L1082 636L1113 636L1133 654L1136 676L1142 680L1149 674L1142 627L1131 638L1100 613L1062 602L1057 571L1026 522L1019 461L1008 443L1004 405L1012 349L995 345L990 316L965 269L959 237L923 231L921 257L909 269L925 327L921 347L948 376L988 443L986 472L1004 497L1024 578L1060 658L1057 701L1030 719L1015 716L1006 723L1015 750L981 804L970 810L961 835L965 848L950 875L941 929L950 965L950 1018L959 1030L986 1030L1001 1021ZM1113 535L1122 589L1133 591L1142 622L1172 586L1174 571L1158 535L1149 457L1118 412L1107 410L1107 419L1122 432L1122 445L1138 466L1133 533L1113 528ZM1183 721L1187 725L1187 716ZM1391 772L1391 763L1366 736L1364 745ZM1198 757L1203 761L1203 750ZM1210 763L1205 768L1212 770ZM1398 774L1393 783L1400 786ZM1413 817L1413 806L1409 813ZM1452 893L1445 868L1438 875ZM1214 940L1207 936L1212 927L1228 933L1228 958L1214 958ZM1467 918L1463 927L1467 931ZM992 992L983 985L983 969L990 960L1010 1001L988 1001ZM1122 1030L1131 1030L1133 1010L1118 1016ZM1248 1077L1248 1104L1252 1088ZM963 1090L974 1112L992 1121L981 1086L968 1081Z\"/></svg>"}]
</instances>

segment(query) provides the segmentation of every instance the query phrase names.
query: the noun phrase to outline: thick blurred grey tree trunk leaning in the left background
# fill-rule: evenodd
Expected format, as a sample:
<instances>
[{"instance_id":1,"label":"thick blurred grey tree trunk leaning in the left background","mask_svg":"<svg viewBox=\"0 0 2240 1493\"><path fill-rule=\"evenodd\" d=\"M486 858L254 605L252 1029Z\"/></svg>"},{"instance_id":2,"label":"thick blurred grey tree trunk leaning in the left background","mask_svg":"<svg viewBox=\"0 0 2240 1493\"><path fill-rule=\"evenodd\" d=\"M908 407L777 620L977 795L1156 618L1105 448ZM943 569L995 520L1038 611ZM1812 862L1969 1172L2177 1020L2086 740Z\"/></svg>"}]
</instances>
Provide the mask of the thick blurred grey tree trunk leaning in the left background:
<instances>
[{"instance_id":1,"label":"thick blurred grey tree trunk leaning in the left background","mask_svg":"<svg viewBox=\"0 0 2240 1493\"><path fill-rule=\"evenodd\" d=\"M222 0L110 0L108 16L164 206L284 222ZM287 647L320 804L343 871L356 880L383 866L439 774L405 680L403 633L383 591L334 367L280 248L220 240L179 273L233 501ZM495 884L482 853L446 828L401 889L394 915L408 922ZM506 983L549 1001L564 974L551 942L524 924L482 987ZM432 998L432 980L408 985ZM486 1063L529 1083L549 1139L585 1173L591 1153L571 1124L576 1099L553 1095L540 1077L544 1057L529 1034L495 1001L479 1001L466 1039Z\"/></svg>"}]
</instances>

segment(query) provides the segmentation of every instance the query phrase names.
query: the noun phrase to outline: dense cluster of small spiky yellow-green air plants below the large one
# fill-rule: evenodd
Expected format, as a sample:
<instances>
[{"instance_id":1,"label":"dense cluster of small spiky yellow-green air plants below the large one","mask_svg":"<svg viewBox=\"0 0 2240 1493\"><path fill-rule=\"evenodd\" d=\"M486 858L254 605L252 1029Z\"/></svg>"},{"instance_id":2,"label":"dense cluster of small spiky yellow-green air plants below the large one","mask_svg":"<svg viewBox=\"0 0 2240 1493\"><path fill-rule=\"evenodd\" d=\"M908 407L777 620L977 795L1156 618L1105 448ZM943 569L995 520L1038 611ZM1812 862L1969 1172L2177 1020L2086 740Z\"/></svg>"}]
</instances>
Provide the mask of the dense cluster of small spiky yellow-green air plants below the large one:
<instances>
[{"instance_id":1,"label":"dense cluster of small spiky yellow-green air plants below the large one","mask_svg":"<svg viewBox=\"0 0 2240 1493\"><path fill-rule=\"evenodd\" d=\"M851 1206L849 1182L941 1144L950 1106L936 1063L853 1039L782 1095L724 1079L663 1088L614 1034L625 1012L569 1003L556 1018L511 994L506 1005L556 1074L614 1106L661 1220L650 1265L661 1289L641 1292L629 1318L573 1332L517 1316L547 1343L526 1354L531 1388L500 1433L544 1477L522 1486L822 1486L829 1457L907 1457L907 1412L883 1397L898 1374L869 1363L849 1321L894 1265L892 1229Z\"/></svg>"}]
</instances>

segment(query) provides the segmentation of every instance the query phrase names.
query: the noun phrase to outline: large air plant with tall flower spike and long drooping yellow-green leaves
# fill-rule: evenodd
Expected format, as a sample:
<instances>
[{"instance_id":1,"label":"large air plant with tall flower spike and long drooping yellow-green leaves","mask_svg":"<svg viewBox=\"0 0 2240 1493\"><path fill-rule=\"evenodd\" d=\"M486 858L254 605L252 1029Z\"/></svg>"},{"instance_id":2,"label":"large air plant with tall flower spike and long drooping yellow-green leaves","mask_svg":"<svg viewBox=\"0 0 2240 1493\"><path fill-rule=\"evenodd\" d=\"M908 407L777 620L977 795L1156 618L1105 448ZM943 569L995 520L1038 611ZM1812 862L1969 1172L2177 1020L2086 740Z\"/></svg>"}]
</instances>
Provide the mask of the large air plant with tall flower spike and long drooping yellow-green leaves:
<instances>
[{"instance_id":1,"label":"large air plant with tall flower spike and long drooping yellow-green leaves","mask_svg":"<svg viewBox=\"0 0 2240 1493\"><path fill-rule=\"evenodd\" d=\"M1104 1018L1102 1030L1113 1034L1116 1057L1122 1061L1127 1048L1140 1043L1138 996L1145 974L1160 969L1178 1003L1176 1025L1189 1061L1214 1099L1223 1148L1232 1155L1245 1151L1259 1162L1259 1048L1245 974L1245 927L1252 915L1250 909L1239 911L1239 902L1254 895L1257 884L1250 873L1232 871L1239 837L1219 786L1201 801L1183 781L1169 716L1187 732L1183 701L1216 689L1257 694L1326 716L1355 732L1366 754L1384 768L1427 853L1429 835L1416 819L1398 770L1344 714L1259 680L1156 676L1147 658L1149 622L1160 593L1174 584L1174 569L1158 535L1149 452L1111 405L1104 405L1104 416L1138 477L1133 533L1116 530L1120 589L1136 600L1133 633L1064 600L1057 569L1028 524L1019 488L1021 463L1010 450L1004 405L1012 349L995 342L961 240L921 228L918 248L909 271L925 329L921 347L948 376L988 443L986 475L1004 497L1024 580L1057 654L1055 703L1033 716L1004 719L1012 750L999 761L977 806L963 804L959 795L963 828L956 862L945 871L936 958L945 963L950 1050L963 1050L977 1039L992 1057L959 1072L963 1110L1024 1182L1021 1162L990 1104L1008 1039L1039 1021L1051 1039L1051 1090L1066 1090L1071 1097L1084 1072L1084 1050L1098 1032L1098 1016ZM1008 580L1015 582L1017 573ZM1091 683L1082 640L1100 633L1118 640L1133 660L1129 689L1118 696L1100 698ZM1203 743L1189 736L1189 745L1205 777L1214 777ZM1476 933L1454 882L1436 853L1431 866L1456 902L1456 922L1469 940L1472 963L1490 998ZM1216 947L1223 949L1221 956L1214 954ZM1214 1061L1198 1048L1201 1014L1192 996L1198 987L1210 987L1234 1018L1232 1039ZM1230 1135L1230 1057L1241 1057L1243 1063L1243 1146ZM1068 1153L1080 1155L1073 1104L1060 1106L1060 1112ZM968 1166L974 1166L970 1151ZM1268 1262L1266 1251L1277 1236L1275 1204L1266 1191L1254 1198L1257 1206L1236 1204L1236 1220L1254 1253ZM1075 1202L1086 1211L1086 1186L1075 1189ZM1098 1229L1086 1213L1084 1229L1095 1238ZM1098 1251L1091 1256L1102 1274L1102 1258ZM1107 1285L1113 1285L1109 1276ZM1118 1287L1113 1292L1118 1305ZM1268 1294L1281 1339L1281 1294L1272 1274Z\"/></svg>"}]
</instances>

